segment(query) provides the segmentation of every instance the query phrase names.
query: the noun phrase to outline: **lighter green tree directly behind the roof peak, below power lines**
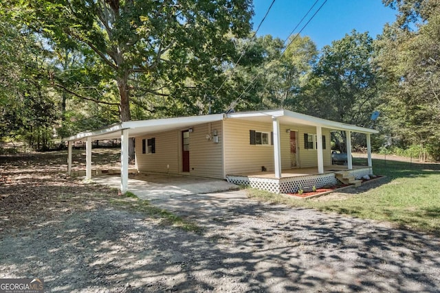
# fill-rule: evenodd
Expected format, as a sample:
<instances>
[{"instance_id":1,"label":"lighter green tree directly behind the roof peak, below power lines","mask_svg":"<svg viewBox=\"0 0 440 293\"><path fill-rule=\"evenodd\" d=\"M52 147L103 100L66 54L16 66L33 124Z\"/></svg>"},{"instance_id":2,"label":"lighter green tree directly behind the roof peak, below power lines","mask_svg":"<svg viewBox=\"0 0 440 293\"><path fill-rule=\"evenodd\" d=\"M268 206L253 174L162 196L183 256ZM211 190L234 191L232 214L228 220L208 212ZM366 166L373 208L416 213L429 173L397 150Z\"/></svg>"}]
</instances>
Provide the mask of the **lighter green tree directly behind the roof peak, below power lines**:
<instances>
[{"instance_id":1,"label":"lighter green tree directly behind the roof peak, below power lines","mask_svg":"<svg viewBox=\"0 0 440 293\"><path fill-rule=\"evenodd\" d=\"M300 87L304 84L318 54L309 37L289 40L289 45L270 35L239 42L243 57L231 72L230 87L236 110L296 108ZM229 95L232 96L232 95Z\"/></svg>"}]
</instances>

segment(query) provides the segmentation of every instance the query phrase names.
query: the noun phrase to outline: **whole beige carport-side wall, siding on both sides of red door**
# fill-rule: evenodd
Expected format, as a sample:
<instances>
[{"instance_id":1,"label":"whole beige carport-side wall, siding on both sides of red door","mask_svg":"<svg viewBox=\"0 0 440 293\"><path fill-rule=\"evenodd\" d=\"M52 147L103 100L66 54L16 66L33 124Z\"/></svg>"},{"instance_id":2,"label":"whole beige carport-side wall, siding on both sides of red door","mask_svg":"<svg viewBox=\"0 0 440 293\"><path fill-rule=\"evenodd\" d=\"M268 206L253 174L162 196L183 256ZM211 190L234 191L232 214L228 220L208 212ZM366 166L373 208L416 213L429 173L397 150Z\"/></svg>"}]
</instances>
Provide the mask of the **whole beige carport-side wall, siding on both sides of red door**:
<instances>
[{"instance_id":1,"label":"whole beige carport-side wall, siding on both sides of red door","mask_svg":"<svg viewBox=\"0 0 440 293\"><path fill-rule=\"evenodd\" d=\"M221 122L201 124L190 132L190 175L223 178ZM208 132L208 131L211 132ZM217 130L219 143L206 139L206 134ZM136 137L136 163L140 172L181 172L181 131L157 132ZM155 154L142 154L142 139L155 138ZM169 165L169 169L167 168Z\"/></svg>"}]
</instances>

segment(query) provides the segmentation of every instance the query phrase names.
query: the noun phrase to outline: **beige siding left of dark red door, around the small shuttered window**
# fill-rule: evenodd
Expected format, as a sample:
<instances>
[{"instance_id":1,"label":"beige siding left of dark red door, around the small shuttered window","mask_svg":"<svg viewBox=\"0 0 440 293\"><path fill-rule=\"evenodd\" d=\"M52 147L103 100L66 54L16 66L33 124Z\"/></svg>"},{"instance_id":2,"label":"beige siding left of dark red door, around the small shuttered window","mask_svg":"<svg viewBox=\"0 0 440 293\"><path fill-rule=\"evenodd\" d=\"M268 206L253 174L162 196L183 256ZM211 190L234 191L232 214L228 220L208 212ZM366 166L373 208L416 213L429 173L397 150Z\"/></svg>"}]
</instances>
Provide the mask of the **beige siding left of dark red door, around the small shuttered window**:
<instances>
[{"instance_id":1,"label":"beige siding left of dark red door, around the small shuttered window","mask_svg":"<svg viewBox=\"0 0 440 293\"><path fill-rule=\"evenodd\" d=\"M155 153L142 154L142 139L155 138ZM167 131L135 138L137 169L140 172L179 173L179 132ZM167 168L169 165L169 169Z\"/></svg>"}]
</instances>

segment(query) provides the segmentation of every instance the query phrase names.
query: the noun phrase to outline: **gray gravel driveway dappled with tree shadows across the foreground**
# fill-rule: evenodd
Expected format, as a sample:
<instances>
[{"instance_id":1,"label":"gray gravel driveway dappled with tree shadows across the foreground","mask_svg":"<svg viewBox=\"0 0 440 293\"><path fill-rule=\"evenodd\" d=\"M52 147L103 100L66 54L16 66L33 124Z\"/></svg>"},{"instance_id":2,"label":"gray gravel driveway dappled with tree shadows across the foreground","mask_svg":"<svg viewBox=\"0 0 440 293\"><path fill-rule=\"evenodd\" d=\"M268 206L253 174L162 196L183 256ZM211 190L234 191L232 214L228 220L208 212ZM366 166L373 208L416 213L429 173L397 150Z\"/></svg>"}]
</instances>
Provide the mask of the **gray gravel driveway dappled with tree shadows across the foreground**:
<instances>
[{"instance_id":1,"label":"gray gravel driveway dappled with tree shadows across the foreground","mask_svg":"<svg viewBox=\"0 0 440 293\"><path fill-rule=\"evenodd\" d=\"M271 208L254 206L248 214L229 217L211 236L126 211L67 214L3 237L0 277L41 277L52 292L439 288L437 239L358 219L324 218L307 209L274 213ZM292 218L281 222L283 213Z\"/></svg>"}]
</instances>

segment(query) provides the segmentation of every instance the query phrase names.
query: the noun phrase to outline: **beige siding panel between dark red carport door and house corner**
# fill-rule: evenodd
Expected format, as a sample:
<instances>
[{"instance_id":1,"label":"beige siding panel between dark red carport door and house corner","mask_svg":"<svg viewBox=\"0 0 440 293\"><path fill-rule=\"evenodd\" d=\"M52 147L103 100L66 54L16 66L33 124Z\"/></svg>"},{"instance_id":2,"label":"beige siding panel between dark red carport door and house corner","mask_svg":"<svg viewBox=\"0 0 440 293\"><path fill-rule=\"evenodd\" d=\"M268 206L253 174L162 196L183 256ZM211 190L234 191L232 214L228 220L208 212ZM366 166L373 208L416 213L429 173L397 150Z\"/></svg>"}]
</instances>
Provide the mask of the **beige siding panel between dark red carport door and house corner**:
<instances>
[{"instance_id":1,"label":"beige siding panel between dark red carport door and house corner","mask_svg":"<svg viewBox=\"0 0 440 293\"><path fill-rule=\"evenodd\" d=\"M190 174L194 176L224 178L223 175L223 133L221 121L201 124L192 128L190 133ZM217 130L219 143L206 135Z\"/></svg>"}]
</instances>

